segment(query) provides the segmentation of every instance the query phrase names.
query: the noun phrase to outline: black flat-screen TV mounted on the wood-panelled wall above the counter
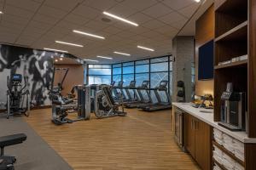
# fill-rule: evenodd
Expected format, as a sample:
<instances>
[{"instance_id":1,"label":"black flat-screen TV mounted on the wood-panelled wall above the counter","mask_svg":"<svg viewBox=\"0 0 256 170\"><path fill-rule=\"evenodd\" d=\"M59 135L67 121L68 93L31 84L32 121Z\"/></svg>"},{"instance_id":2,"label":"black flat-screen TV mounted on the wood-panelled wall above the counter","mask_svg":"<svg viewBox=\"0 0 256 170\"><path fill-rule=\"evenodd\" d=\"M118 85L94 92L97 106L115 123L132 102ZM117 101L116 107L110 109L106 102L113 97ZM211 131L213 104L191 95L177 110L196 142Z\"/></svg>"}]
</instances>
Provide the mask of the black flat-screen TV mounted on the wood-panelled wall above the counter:
<instances>
[{"instance_id":1,"label":"black flat-screen TV mounted on the wood-panelled wall above the counter","mask_svg":"<svg viewBox=\"0 0 256 170\"><path fill-rule=\"evenodd\" d=\"M198 80L213 78L213 40L199 48L198 52Z\"/></svg>"}]
</instances>

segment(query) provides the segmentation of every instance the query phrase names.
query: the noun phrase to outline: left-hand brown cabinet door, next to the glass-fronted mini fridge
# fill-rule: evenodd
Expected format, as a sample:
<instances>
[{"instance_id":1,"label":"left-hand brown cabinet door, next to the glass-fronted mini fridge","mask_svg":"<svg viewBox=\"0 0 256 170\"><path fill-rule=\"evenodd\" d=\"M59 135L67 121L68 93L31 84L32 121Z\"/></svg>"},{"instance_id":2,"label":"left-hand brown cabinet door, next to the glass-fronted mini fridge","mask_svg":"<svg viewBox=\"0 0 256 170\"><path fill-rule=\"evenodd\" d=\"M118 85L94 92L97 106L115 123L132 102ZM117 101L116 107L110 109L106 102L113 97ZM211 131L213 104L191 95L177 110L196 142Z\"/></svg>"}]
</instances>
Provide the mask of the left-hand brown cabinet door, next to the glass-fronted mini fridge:
<instances>
[{"instance_id":1,"label":"left-hand brown cabinet door, next to the glass-fronted mini fridge","mask_svg":"<svg viewBox=\"0 0 256 170\"><path fill-rule=\"evenodd\" d=\"M195 157L195 129L194 118L189 114L184 114L184 146L189 151L190 155Z\"/></svg>"}]
</instances>

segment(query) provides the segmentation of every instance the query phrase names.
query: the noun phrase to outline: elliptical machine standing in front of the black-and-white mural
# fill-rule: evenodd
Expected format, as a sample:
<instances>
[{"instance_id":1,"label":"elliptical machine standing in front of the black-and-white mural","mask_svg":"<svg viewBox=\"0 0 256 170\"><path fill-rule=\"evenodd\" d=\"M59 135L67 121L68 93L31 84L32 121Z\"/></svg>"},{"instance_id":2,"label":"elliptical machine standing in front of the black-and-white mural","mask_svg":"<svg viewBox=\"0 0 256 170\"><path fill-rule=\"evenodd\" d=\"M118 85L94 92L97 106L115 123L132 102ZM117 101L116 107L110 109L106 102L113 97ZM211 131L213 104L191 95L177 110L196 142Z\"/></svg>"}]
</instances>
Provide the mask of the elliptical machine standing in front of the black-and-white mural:
<instances>
[{"instance_id":1,"label":"elliptical machine standing in front of the black-and-white mural","mask_svg":"<svg viewBox=\"0 0 256 170\"><path fill-rule=\"evenodd\" d=\"M22 75L14 74L7 77L7 118L9 116L29 116L31 99L28 90L26 88L26 78L24 77L24 86L21 88ZM24 107L24 100L26 99L26 106Z\"/></svg>"}]
</instances>

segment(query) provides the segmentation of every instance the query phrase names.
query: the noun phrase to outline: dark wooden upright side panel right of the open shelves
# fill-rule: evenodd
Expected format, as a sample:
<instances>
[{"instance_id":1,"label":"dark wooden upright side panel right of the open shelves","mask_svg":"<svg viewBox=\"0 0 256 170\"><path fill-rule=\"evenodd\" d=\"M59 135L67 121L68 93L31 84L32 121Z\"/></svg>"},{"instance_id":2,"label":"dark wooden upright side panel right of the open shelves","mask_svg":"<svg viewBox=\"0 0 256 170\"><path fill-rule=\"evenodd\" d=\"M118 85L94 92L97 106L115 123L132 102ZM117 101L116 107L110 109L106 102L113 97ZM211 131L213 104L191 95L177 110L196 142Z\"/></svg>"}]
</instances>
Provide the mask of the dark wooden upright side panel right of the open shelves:
<instances>
[{"instance_id":1,"label":"dark wooden upright side panel right of the open shelves","mask_svg":"<svg viewBox=\"0 0 256 170\"><path fill-rule=\"evenodd\" d=\"M256 138L256 0L249 0L248 48L248 137Z\"/></svg>"}]
</instances>

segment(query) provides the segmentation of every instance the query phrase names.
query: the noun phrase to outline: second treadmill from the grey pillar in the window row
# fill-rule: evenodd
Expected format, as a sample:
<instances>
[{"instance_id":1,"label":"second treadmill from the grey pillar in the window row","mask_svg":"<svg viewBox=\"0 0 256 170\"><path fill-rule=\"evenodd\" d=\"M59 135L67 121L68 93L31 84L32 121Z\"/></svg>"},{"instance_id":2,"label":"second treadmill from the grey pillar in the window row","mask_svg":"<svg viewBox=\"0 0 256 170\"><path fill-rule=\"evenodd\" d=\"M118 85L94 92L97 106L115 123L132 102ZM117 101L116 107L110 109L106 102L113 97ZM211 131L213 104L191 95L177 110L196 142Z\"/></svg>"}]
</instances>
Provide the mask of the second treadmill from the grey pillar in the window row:
<instances>
[{"instance_id":1,"label":"second treadmill from the grey pillar in the window row","mask_svg":"<svg viewBox=\"0 0 256 170\"><path fill-rule=\"evenodd\" d=\"M133 92L136 95L137 101L125 103L124 105L126 108L136 108L138 105L145 105L152 102L150 96L148 96L148 99L144 99L142 94L143 90L146 90L148 94L148 84L149 84L149 81L143 81L141 86L137 88L131 88L133 89Z\"/></svg>"}]
</instances>

